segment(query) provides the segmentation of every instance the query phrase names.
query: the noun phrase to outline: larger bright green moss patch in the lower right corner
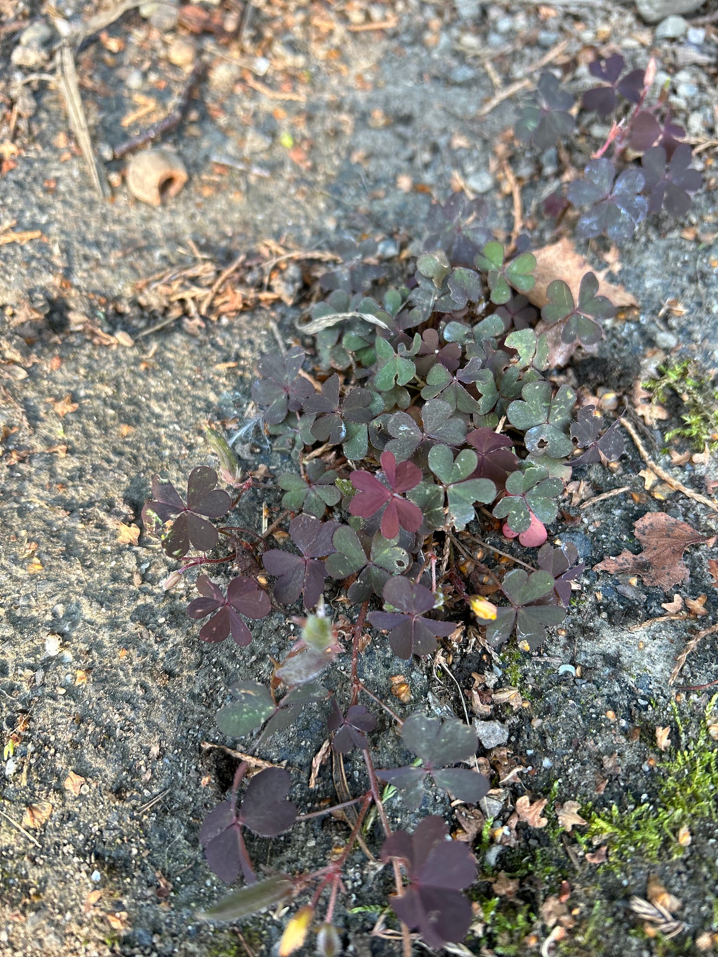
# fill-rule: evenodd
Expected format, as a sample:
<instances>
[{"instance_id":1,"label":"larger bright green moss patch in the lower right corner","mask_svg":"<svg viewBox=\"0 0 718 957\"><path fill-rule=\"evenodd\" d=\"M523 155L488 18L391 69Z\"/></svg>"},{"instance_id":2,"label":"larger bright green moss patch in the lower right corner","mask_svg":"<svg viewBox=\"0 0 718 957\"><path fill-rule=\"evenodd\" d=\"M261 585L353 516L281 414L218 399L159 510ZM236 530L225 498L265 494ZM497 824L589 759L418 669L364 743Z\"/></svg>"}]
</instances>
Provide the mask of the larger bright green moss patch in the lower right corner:
<instances>
[{"instance_id":1,"label":"larger bright green moss patch in the lower right corner","mask_svg":"<svg viewBox=\"0 0 718 957\"><path fill-rule=\"evenodd\" d=\"M620 861L636 855L652 862L680 857L684 853L678 840L681 828L694 828L701 822L718 819L718 747L707 732L717 700L718 696L708 703L706 720L695 740L684 743L658 766L658 793L654 799L627 810L613 805L608 811L584 812L589 827L578 839L585 847L591 846L592 837L607 835L611 861L618 867ZM684 740L683 724L678 712L675 714Z\"/></svg>"}]
</instances>

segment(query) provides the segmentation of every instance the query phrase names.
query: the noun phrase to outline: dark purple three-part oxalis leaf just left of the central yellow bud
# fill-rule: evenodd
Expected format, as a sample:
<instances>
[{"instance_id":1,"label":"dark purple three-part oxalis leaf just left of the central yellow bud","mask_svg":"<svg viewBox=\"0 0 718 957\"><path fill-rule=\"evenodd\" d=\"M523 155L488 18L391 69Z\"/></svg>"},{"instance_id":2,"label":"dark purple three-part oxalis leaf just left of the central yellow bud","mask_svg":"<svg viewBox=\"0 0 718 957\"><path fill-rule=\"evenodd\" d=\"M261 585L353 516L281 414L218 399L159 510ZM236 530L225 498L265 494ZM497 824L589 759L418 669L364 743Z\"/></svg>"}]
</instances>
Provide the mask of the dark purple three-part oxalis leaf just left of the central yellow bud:
<instances>
[{"instance_id":1,"label":"dark purple three-part oxalis leaf just left of the central yellow bud","mask_svg":"<svg viewBox=\"0 0 718 957\"><path fill-rule=\"evenodd\" d=\"M451 634L457 627L451 621L424 617L436 604L434 594L409 578L390 578L382 595L384 607L390 605L396 611L370 612L369 620L374 628L389 631L389 643L398 657L431 655L437 648L436 636Z\"/></svg>"}]
</instances>

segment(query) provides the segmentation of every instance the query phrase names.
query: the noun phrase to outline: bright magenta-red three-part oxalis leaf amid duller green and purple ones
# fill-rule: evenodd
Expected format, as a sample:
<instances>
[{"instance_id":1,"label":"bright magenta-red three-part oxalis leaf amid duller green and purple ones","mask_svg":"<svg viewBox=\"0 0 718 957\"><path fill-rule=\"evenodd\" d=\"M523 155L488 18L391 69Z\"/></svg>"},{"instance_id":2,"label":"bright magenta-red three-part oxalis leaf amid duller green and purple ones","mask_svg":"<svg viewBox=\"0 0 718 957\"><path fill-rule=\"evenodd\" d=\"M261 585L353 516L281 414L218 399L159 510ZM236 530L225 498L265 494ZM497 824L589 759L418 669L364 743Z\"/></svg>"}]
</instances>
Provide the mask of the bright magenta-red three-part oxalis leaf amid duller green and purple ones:
<instances>
[{"instance_id":1,"label":"bright magenta-red three-part oxalis leaf amid duller green and purple ones","mask_svg":"<svg viewBox=\"0 0 718 957\"><path fill-rule=\"evenodd\" d=\"M381 533L385 539L395 538L399 528L417 531L422 522L421 509L413 501L404 499L403 495L421 481L421 470L413 462L400 462L397 465L391 452L383 452L380 461L389 488L370 472L352 472L349 479L357 489L357 494L349 502L350 514L369 519L384 507Z\"/></svg>"}]
</instances>

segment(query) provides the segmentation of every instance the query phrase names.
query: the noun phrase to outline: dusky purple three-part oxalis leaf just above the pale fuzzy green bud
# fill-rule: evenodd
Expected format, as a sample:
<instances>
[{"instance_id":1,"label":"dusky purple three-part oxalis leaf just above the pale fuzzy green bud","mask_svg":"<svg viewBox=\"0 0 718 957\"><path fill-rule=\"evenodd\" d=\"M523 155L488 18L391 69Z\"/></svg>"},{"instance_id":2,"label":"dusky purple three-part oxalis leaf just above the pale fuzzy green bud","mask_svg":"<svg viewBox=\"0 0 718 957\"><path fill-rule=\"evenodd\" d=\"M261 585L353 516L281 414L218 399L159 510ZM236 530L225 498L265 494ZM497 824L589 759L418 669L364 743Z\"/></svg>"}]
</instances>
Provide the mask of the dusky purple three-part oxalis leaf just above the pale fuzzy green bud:
<instances>
[{"instance_id":1,"label":"dusky purple three-part oxalis leaf just above the pale fuzzy green bud","mask_svg":"<svg viewBox=\"0 0 718 957\"><path fill-rule=\"evenodd\" d=\"M320 522L312 515L298 515L289 523L289 537L302 554L294 555L280 548L264 552L264 568L277 576L274 593L282 605L291 605L301 594L304 608L317 604L326 578L325 563L317 559L334 551L331 537L338 527L338 522Z\"/></svg>"}]
</instances>

